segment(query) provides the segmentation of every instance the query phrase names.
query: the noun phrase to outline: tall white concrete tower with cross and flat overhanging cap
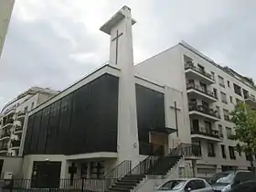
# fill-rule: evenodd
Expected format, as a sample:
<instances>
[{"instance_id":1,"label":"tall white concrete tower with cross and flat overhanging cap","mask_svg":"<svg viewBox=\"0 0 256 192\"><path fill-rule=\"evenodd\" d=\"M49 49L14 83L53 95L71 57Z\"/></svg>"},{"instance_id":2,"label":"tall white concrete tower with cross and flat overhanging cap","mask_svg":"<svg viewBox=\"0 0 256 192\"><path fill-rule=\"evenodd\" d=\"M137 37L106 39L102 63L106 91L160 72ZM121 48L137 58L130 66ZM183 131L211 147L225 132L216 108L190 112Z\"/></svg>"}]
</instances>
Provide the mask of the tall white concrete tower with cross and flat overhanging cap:
<instances>
[{"instance_id":1,"label":"tall white concrete tower with cross and flat overhanging cap","mask_svg":"<svg viewBox=\"0 0 256 192\"><path fill-rule=\"evenodd\" d=\"M133 34L135 21L128 6L118 11L101 27L110 35L110 65L121 70L118 101L118 156L119 162L139 157L136 95L133 72Z\"/></svg>"}]
</instances>

